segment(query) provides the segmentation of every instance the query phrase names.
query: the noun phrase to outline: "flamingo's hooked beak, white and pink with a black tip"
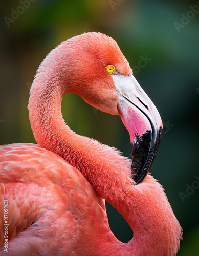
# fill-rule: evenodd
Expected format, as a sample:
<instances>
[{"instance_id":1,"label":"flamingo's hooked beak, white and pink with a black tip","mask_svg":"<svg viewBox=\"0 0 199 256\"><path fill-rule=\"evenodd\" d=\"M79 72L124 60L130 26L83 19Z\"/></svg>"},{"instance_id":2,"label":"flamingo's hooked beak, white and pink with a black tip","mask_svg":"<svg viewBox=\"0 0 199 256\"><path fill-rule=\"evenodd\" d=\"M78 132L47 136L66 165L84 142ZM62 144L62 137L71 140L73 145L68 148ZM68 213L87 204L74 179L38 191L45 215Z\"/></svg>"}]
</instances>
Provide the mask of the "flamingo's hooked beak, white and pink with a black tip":
<instances>
[{"instance_id":1,"label":"flamingo's hooked beak, white and pink with a black tip","mask_svg":"<svg viewBox=\"0 0 199 256\"><path fill-rule=\"evenodd\" d=\"M112 75L118 92L118 110L130 134L131 177L139 184L146 177L157 154L162 120L156 106L149 99L133 75Z\"/></svg>"}]
</instances>

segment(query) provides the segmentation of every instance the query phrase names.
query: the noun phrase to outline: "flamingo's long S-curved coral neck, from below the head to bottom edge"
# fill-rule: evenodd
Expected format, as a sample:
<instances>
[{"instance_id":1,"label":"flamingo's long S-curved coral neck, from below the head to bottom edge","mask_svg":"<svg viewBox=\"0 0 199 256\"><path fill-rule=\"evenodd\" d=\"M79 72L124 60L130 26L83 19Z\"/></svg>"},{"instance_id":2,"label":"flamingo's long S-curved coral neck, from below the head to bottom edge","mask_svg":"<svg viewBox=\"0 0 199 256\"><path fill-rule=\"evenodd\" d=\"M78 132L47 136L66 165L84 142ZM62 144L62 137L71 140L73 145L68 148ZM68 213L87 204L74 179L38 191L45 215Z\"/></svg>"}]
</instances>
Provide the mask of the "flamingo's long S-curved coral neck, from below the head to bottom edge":
<instances>
[{"instance_id":1,"label":"flamingo's long S-curved coral neck, from below the head to bottom edge","mask_svg":"<svg viewBox=\"0 0 199 256\"><path fill-rule=\"evenodd\" d=\"M61 99L68 91L67 86L57 73L55 76L47 72L46 76L42 67L40 70L33 81L29 99L29 116L36 141L80 170L134 231L134 238L128 244L118 244L115 240L115 244L110 243L108 252L103 253L101 244L100 253L109 255L107 253L117 247L118 255L123 254L124 248L130 253L128 255L174 255L171 251L179 247L180 226L162 187L152 177L147 177L140 185L132 185L128 159L113 148L75 134L61 115ZM172 227L167 225L168 218ZM173 232L173 229L177 231ZM175 243L172 248L171 239Z\"/></svg>"}]
</instances>

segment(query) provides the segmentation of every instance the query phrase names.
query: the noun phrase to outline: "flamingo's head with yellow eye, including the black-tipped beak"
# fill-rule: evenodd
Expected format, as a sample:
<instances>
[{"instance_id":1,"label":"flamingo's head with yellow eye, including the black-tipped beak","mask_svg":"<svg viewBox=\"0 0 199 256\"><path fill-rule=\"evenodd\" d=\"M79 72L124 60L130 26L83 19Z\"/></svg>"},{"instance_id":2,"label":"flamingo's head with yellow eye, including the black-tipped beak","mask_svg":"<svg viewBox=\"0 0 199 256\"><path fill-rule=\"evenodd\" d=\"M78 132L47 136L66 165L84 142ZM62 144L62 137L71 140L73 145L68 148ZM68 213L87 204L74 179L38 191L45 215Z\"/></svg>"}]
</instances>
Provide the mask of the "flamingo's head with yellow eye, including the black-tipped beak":
<instances>
[{"instance_id":1,"label":"flamingo's head with yellow eye, including the black-tipped beak","mask_svg":"<svg viewBox=\"0 0 199 256\"><path fill-rule=\"evenodd\" d=\"M84 33L58 48L62 50L57 63L65 61L59 65L59 72L67 66L62 75L67 84L63 83L63 94L77 93L95 108L120 115L130 134L132 178L140 183L156 156L162 133L156 106L132 75L128 61L111 37Z\"/></svg>"}]
</instances>

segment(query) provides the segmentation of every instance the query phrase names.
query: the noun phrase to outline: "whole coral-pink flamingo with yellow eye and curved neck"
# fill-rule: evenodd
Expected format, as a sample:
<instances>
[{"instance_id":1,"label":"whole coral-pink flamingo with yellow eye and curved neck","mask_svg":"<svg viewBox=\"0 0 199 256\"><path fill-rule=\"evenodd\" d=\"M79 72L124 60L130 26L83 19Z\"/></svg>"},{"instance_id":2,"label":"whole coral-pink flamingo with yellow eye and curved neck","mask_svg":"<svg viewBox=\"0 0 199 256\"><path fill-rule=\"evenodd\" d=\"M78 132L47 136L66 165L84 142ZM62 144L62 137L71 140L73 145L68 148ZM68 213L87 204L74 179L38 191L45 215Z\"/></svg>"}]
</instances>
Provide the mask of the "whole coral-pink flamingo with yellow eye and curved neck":
<instances>
[{"instance_id":1,"label":"whole coral-pink flamingo with yellow eye and curved neck","mask_svg":"<svg viewBox=\"0 0 199 256\"><path fill-rule=\"evenodd\" d=\"M130 134L132 162L65 124L61 99L69 92L121 116ZM148 174L160 142L161 117L111 37L87 32L52 50L37 70L28 109L38 144L0 147L1 255L178 252L180 224L163 187ZM128 243L110 230L105 200L133 230Z\"/></svg>"}]
</instances>

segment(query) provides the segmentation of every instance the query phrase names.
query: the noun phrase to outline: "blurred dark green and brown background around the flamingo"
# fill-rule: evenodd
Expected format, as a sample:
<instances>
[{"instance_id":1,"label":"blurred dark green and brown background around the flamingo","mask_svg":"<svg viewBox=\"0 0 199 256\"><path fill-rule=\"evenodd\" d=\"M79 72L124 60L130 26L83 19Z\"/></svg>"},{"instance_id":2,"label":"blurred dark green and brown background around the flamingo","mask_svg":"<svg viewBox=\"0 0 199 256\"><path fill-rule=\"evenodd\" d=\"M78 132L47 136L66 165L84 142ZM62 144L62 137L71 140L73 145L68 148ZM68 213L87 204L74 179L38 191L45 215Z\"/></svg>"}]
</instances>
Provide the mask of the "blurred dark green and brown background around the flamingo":
<instances>
[{"instance_id":1,"label":"blurred dark green and brown background around the flamingo","mask_svg":"<svg viewBox=\"0 0 199 256\"><path fill-rule=\"evenodd\" d=\"M23 2L26 8L21 8ZM195 12L190 5L196 6ZM190 0L10 0L1 1L0 10L0 143L35 143L27 110L29 89L51 49L86 31L112 36L163 120L151 173L164 186L183 227L181 256L199 255L198 5ZM139 66L142 58L147 58L144 67ZM119 117L92 108L74 94L64 96L62 113L76 133L131 157L129 135ZM128 224L109 204L107 211L115 235L130 240Z\"/></svg>"}]
</instances>

